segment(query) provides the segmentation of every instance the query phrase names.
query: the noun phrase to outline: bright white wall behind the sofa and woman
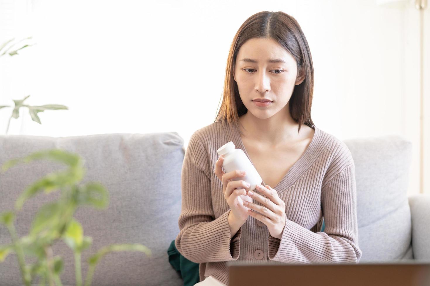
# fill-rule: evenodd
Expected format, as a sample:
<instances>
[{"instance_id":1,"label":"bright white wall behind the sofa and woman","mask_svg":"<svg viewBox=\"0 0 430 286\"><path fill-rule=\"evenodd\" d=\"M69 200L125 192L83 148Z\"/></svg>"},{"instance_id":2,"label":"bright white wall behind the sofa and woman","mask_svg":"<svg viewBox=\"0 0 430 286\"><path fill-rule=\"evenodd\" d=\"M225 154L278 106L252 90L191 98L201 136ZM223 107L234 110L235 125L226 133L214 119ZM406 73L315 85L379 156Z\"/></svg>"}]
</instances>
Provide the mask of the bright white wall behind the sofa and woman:
<instances>
[{"instance_id":1,"label":"bright white wall behind the sofa and woman","mask_svg":"<svg viewBox=\"0 0 430 286\"><path fill-rule=\"evenodd\" d=\"M37 43L0 57L0 105L30 94L30 105L69 107L39 113L41 125L22 110L9 134L175 131L187 146L215 119L237 29L256 12L280 10L310 45L314 123L341 140L411 140L408 193L418 193L418 11L406 2L0 0L0 42ZM1 134L11 112L0 109Z\"/></svg>"}]
</instances>

